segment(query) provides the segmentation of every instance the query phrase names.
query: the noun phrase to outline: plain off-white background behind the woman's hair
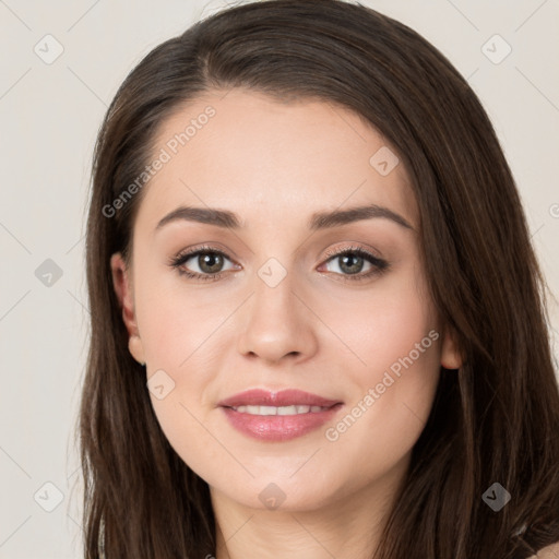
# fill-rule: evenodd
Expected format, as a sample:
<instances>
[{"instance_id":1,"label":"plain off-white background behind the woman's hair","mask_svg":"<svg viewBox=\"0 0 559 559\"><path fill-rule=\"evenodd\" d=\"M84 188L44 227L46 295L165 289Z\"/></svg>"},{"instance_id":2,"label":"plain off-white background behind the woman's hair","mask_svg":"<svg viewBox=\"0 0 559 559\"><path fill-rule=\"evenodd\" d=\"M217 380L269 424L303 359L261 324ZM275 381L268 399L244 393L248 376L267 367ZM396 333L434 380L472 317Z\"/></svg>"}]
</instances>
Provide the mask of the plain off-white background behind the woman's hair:
<instances>
[{"instance_id":1,"label":"plain off-white background behind the woman's hair","mask_svg":"<svg viewBox=\"0 0 559 559\"><path fill-rule=\"evenodd\" d=\"M468 80L512 167L557 295L558 0L361 3L419 32ZM86 356L83 235L95 136L128 72L224 5L0 0L0 559L82 557L73 432ZM34 50L47 34L63 47L50 64ZM507 45L512 51L495 63ZM557 355L556 304L550 313Z\"/></svg>"}]
</instances>

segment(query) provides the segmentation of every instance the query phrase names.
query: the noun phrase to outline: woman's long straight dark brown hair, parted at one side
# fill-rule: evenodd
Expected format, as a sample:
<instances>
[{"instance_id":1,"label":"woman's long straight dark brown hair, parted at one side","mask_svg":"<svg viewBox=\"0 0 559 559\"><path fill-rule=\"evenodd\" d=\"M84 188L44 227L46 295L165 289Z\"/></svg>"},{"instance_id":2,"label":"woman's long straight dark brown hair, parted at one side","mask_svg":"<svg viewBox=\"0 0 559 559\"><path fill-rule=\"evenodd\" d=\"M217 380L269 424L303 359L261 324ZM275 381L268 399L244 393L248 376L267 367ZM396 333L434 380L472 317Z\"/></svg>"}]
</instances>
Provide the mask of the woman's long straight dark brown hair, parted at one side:
<instances>
[{"instance_id":1,"label":"woman's long straight dark brown hair, parted at one side","mask_svg":"<svg viewBox=\"0 0 559 559\"><path fill-rule=\"evenodd\" d=\"M215 555L207 484L159 428L112 287L110 255L130 254L142 192L114 215L107 209L141 175L166 117L231 87L349 108L395 146L413 178L429 288L465 362L441 368L374 559L524 559L559 540L546 284L487 114L441 52L402 23L341 0L269 0L219 12L153 49L98 134L79 427L85 557L99 557L99 539L107 559ZM493 483L511 496L499 512L483 499Z\"/></svg>"}]
</instances>

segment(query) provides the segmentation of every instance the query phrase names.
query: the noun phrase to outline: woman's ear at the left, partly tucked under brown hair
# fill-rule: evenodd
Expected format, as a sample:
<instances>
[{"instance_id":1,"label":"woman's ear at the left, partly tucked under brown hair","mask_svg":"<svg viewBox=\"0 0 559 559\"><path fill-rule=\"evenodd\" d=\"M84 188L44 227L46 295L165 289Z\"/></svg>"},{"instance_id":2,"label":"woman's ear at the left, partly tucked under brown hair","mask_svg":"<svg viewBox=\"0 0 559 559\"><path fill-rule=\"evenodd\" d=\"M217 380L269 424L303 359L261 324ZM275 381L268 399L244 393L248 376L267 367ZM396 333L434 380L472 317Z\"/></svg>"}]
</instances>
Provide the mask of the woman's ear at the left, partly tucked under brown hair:
<instances>
[{"instance_id":1,"label":"woman's ear at the left, partly tucked under brown hair","mask_svg":"<svg viewBox=\"0 0 559 559\"><path fill-rule=\"evenodd\" d=\"M115 293L122 309L122 321L129 335L128 348L140 365L145 365L144 349L135 319L131 275L120 252L110 257L110 270Z\"/></svg>"}]
</instances>

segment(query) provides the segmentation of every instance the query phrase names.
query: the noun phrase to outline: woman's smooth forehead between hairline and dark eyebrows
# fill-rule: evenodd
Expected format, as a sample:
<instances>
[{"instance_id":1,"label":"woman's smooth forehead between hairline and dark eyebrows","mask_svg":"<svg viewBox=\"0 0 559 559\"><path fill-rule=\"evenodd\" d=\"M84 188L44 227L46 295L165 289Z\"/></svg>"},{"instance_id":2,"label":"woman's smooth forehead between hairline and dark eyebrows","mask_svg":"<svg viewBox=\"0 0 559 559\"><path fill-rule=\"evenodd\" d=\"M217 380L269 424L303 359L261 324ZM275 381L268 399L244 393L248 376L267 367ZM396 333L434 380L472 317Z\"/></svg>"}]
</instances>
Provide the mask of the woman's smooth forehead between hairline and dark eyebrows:
<instances>
[{"instance_id":1,"label":"woman's smooth forehead between hairline and dark eyebrows","mask_svg":"<svg viewBox=\"0 0 559 559\"><path fill-rule=\"evenodd\" d=\"M386 140L345 107L308 98L278 102L243 90L211 92L162 122L141 213L155 219L180 204L226 207L247 225L376 203L417 223L407 171ZM277 226L277 223L275 223Z\"/></svg>"}]
</instances>

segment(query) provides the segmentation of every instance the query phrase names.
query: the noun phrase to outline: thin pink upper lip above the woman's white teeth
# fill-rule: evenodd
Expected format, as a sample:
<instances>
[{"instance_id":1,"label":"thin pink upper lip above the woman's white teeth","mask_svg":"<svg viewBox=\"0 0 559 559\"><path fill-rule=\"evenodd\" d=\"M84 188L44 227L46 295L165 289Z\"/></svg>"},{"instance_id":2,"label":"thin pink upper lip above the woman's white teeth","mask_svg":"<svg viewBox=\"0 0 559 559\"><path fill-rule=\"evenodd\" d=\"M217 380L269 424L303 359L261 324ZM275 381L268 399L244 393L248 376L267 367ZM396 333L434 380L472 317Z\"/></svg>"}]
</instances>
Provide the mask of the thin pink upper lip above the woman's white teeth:
<instances>
[{"instance_id":1,"label":"thin pink upper lip above the woman's white teeth","mask_svg":"<svg viewBox=\"0 0 559 559\"><path fill-rule=\"evenodd\" d=\"M263 389L252 389L245 392L239 392L233 396L222 400L217 405L223 407L237 407L237 406L321 406L332 407L340 404L340 400L329 400L310 392L304 392L296 389L282 390L273 392Z\"/></svg>"}]
</instances>

